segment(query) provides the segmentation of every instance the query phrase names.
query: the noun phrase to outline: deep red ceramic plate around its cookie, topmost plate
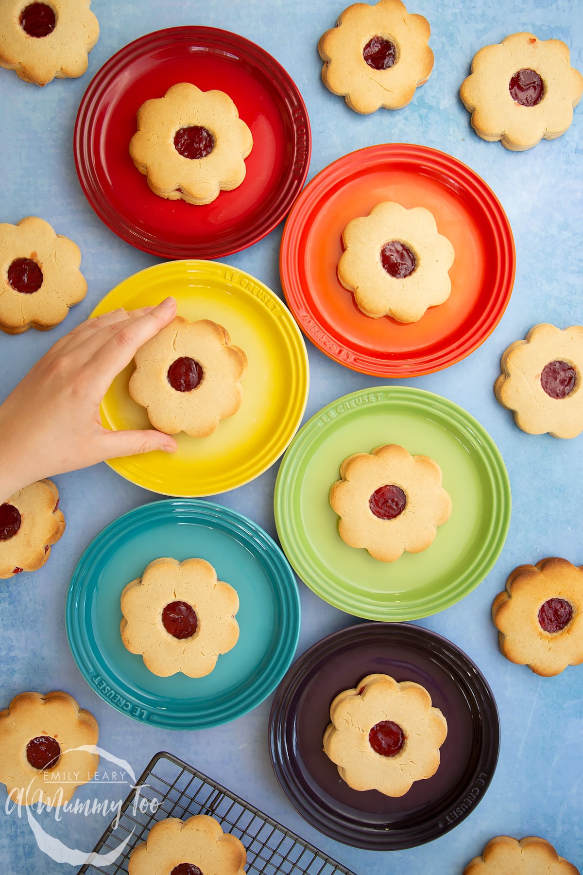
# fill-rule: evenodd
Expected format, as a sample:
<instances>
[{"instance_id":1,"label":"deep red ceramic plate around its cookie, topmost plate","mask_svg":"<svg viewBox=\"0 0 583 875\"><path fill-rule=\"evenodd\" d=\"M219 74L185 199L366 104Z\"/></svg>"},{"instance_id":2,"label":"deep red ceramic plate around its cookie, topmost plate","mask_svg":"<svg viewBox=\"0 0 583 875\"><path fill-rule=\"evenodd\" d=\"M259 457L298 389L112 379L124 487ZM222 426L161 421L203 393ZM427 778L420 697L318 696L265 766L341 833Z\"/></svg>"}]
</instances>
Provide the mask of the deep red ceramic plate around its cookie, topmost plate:
<instances>
[{"instance_id":1,"label":"deep red ceramic plate around its cookie, topmost plate","mask_svg":"<svg viewBox=\"0 0 583 875\"><path fill-rule=\"evenodd\" d=\"M253 134L245 180L205 207L152 193L128 152L138 108L184 81L225 91ZM219 258L251 246L288 213L308 173L311 138L302 96L259 45L212 27L173 27L129 43L96 73L73 151L87 200L122 240L161 258Z\"/></svg>"}]
</instances>

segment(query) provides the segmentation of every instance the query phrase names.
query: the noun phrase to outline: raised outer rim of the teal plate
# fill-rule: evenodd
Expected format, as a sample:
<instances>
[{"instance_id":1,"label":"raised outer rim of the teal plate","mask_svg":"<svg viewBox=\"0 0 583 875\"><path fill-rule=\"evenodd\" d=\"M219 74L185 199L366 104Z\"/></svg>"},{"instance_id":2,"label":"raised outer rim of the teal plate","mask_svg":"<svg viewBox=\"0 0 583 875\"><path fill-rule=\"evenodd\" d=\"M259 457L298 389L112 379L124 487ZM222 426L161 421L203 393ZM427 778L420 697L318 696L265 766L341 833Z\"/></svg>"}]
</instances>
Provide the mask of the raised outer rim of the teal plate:
<instances>
[{"instance_id":1,"label":"raised outer rim of the teal plate","mask_svg":"<svg viewBox=\"0 0 583 875\"><path fill-rule=\"evenodd\" d=\"M127 691L123 690L124 695L121 696L116 690L117 678L113 676L111 671L107 671L107 675L102 671L103 666L100 665L98 677L100 681L106 684L106 689L103 690L97 683L91 683L91 679L87 667L93 668L94 651L91 648L85 632L85 624L81 622L85 615L85 610L81 610L87 606L87 589L93 575L92 566L101 556L104 549L108 548L111 543L110 535L115 533L115 537L127 533L131 528L144 521L148 521L148 517L153 517L156 521L161 516L166 515L170 518L180 516L181 521L184 517L192 518L192 521L198 523L206 523L212 525L212 521L220 521L224 524L224 530L230 535L243 536L246 548L253 546L252 555L256 562L264 565L266 559L270 564L273 564L277 569L277 574L269 575L270 579L276 584L277 591L281 598L281 604L287 607L285 616L287 617L287 639L284 641L284 632L286 628L278 629L278 635L272 638L272 641L279 642L279 662L274 664L272 660L269 663L270 669L277 669L272 676L267 677L267 673L261 674L254 683L254 697L248 695L249 688L246 687L246 695L241 696L239 691L239 702L237 710L231 710L229 706L228 715L221 716L220 711L215 708L212 711L211 718L201 717L198 705L198 711L193 714L185 714L184 709L172 713L168 707L164 707L159 713L150 710L149 705L143 708L143 702L139 695L132 693L127 695ZM239 541L240 542L240 541ZM265 565L264 565L265 567ZM93 591L96 588L94 584ZM82 598L82 602L80 602ZM291 613L290 613L291 612ZM292 616L293 613L293 616ZM94 535L94 538L87 544L87 547L81 553L79 559L75 563L69 583L67 585L66 600L65 600L65 627L66 638L69 648L73 655L73 661L80 671L87 685L94 692L111 705L115 711L125 714L130 718L135 719L143 725L149 725L154 728L171 729L175 731L183 730L198 730L210 729L214 726L225 725L234 719L244 716L249 711L253 711L265 699L271 695L281 677L288 670L289 665L294 659L295 651L299 641L302 619L302 606L300 591L295 580L295 575L292 568L289 566L288 560L274 539L269 535L264 528L261 528L259 523L251 520L245 514L233 510L232 507L226 507L215 502L197 499L197 498L174 498L160 499L149 501L146 504L138 505L124 514L115 517L114 520L108 522L106 526L101 528L101 531ZM93 624L92 624L93 626ZM108 668L106 666L106 668ZM267 682L266 683L266 679ZM119 686L119 684L118 684ZM253 689L253 685L252 685ZM115 692L115 697L109 697L108 691ZM120 701L121 700L121 701ZM241 701L242 700L242 701ZM187 699L184 701L188 701ZM128 708L124 705L129 705ZM224 710L225 706L223 706ZM135 713L137 711L137 713ZM140 712L149 714L149 719L144 719L140 716ZM153 719L156 718L156 719Z\"/></svg>"}]
</instances>

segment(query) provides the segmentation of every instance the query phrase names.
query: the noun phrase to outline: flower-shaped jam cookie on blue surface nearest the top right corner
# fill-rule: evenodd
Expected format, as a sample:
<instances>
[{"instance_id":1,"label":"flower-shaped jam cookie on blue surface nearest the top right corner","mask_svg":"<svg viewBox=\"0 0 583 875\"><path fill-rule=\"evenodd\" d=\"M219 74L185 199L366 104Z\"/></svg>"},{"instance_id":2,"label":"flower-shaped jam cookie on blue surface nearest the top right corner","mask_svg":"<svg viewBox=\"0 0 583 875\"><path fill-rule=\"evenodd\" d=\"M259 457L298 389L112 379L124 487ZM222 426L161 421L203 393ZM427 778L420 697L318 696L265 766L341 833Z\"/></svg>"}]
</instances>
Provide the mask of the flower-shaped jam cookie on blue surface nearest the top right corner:
<instances>
[{"instance_id":1,"label":"flower-shaped jam cookie on blue surface nearest the top right corner","mask_svg":"<svg viewBox=\"0 0 583 875\"><path fill-rule=\"evenodd\" d=\"M460 97L482 140L523 151L564 134L583 94L583 76L559 39L512 33L475 54Z\"/></svg>"}]
</instances>

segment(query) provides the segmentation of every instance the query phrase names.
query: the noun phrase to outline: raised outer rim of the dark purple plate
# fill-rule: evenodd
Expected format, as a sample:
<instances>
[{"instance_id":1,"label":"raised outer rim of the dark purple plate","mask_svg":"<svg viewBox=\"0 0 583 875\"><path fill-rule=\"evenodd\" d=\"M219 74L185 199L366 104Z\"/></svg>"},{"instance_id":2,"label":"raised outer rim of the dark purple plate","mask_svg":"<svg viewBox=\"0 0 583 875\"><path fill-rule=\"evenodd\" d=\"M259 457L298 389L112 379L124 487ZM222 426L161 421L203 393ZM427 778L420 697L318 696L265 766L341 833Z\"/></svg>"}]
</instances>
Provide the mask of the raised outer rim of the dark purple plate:
<instances>
[{"instance_id":1,"label":"raised outer rim of the dark purple plate","mask_svg":"<svg viewBox=\"0 0 583 875\"><path fill-rule=\"evenodd\" d=\"M475 701L478 705L482 704L484 709L483 713L482 710L480 711L481 724L484 718L488 718L489 721L487 730L482 732L482 750L486 752L487 758L485 765L482 764L482 760L479 761L478 766L472 771L471 781L468 781L464 785L463 791L456 796L456 802L453 803L451 807L448 807L448 811L455 811L456 805L461 802L466 802L468 788L472 790L475 788L475 775L478 771L479 774L482 775L484 769L487 768L488 776L485 781L482 779L483 783L480 788L478 788L475 798L467 804L466 809L462 810L461 814L456 814L451 822L446 821L443 823L441 820L438 820L436 827L431 830L427 826L413 828L413 830L400 831L393 828L387 830L382 828L382 826L372 825L353 827L352 824L346 822L345 817L329 817L326 812L317 807L316 804L310 805L307 802L308 797L306 794L302 794L302 785L295 774L294 768L291 767L289 755L289 765L288 767L284 767L283 752L288 753L288 746L285 744L284 738L284 731L286 728L285 721L290 719L289 709L291 698L295 695L295 690L297 690L299 684L302 683L309 674L309 662L316 662L316 666L312 666L311 669L315 670L324 660L330 660L335 653L346 650L350 645L357 645L361 634L365 634L366 636L378 635L379 637L396 634L398 637L405 637L405 639L427 639L427 644L429 646L432 643L438 645L438 647L434 648L433 657L437 655L441 660L443 648L449 648L460 662L468 664L469 668L473 671L474 683L477 681L479 685L478 692L479 698L481 699L481 702L478 702L477 698L475 698ZM349 639L348 641L347 636ZM474 690L473 687L471 689L476 697L476 690ZM294 742L297 735L295 730L296 718L297 715L293 715L292 728L290 729ZM500 753L500 739L501 725L496 698L494 697L488 680L484 676L482 670L471 659L471 657L469 657L462 648L458 647L454 641L448 640L443 635L436 633L431 629L415 626L412 623L399 622L364 621L362 623L356 623L349 627L337 629L336 632L324 636L323 639L316 641L311 647L304 650L302 654L296 657L285 676L281 679L281 683L277 690L275 690L274 699L269 711L267 726L269 758L275 778L280 785L281 791L288 798L288 802L293 805L298 814L315 826L317 830L323 832L324 835L333 838L342 844L349 844L352 847L363 848L371 851L399 851L405 850L406 848L418 847L420 844L427 844L427 842L431 842L435 838L445 835L450 830L453 830L458 823L462 823L462 820L465 820L465 818L473 812L475 806L482 801L483 795L488 790L489 785L494 778ZM296 746L294 744L294 753L295 752ZM289 782L284 780L284 774L289 779ZM313 775L312 778L319 787L320 785L317 783ZM311 798L312 797L310 796L310 802ZM337 823L335 823L335 820ZM349 828L350 830L354 830L354 833L350 832L350 840L347 840ZM413 840L412 836L407 835L409 832L415 832L419 835L416 835Z\"/></svg>"}]
</instances>

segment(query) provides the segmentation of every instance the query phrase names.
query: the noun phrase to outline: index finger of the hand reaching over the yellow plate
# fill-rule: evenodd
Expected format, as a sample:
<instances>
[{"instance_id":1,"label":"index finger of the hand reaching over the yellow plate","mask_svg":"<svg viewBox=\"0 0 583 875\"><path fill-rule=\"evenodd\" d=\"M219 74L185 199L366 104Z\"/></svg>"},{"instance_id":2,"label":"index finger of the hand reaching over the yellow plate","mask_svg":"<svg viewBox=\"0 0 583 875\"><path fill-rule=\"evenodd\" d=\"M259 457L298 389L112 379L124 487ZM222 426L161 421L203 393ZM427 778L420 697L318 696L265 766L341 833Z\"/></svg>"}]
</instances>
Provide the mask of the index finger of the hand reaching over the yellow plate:
<instances>
[{"instance_id":1,"label":"index finger of the hand reaching over the yellow plate","mask_svg":"<svg viewBox=\"0 0 583 875\"><path fill-rule=\"evenodd\" d=\"M127 324L121 325L110 334L109 339L88 362L91 373L101 383L103 393L107 391L115 375L134 358L136 350L168 325L175 316L176 301L173 297L167 297L149 313L130 319Z\"/></svg>"}]
</instances>

